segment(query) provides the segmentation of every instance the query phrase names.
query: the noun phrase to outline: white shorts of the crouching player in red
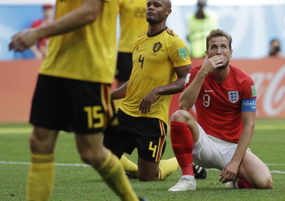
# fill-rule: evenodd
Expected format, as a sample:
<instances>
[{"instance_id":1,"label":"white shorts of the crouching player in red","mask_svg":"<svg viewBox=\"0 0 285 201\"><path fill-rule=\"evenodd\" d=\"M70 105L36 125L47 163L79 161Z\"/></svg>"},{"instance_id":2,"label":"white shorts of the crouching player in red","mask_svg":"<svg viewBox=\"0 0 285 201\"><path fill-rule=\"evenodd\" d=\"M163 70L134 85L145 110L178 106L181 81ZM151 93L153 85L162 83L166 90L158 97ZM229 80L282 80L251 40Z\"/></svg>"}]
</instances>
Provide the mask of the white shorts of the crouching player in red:
<instances>
[{"instance_id":1,"label":"white shorts of the crouching player in red","mask_svg":"<svg viewBox=\"0 0 285 201\"><path fill-rule=\"evenodd\" d=\"M197 122L196 124L200 136L199 140L194 143L193 162L204 168L223 170L234 156L238 144L208 135ZM251 152L249 148L247 148L247 151Z\"/></svg>"}]
</instances>

